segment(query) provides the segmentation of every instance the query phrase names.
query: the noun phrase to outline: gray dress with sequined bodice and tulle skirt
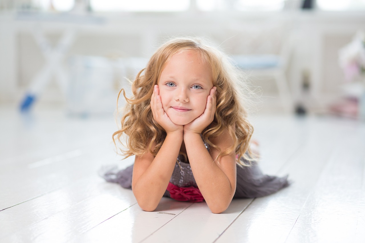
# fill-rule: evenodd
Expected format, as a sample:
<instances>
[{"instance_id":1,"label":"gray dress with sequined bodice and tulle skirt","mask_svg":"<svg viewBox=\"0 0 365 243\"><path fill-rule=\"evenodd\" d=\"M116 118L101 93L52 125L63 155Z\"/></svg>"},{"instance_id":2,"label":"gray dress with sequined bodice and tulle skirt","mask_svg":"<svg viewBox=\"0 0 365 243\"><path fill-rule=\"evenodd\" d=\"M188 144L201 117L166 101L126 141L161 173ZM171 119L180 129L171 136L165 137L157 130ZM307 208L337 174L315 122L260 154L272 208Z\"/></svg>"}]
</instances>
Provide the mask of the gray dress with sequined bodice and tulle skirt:
<instances>
[{"instance_id":1,"label":"gray dress with sequined bodice and tulle skirt","mask_svg":"<svg viewBox=\"0 0 365 243\"><path fill-rule=\"evenodd\" d=\"M207 147L207 146L205 146ZM209 148L207 147L209 150ZM243 160L243 158L241 158ZM243 161L246 162L247 161ZM237 184L234 198L254 198L262 197L277 192L289 185L287 176L277 177L262 173L256 162L251 162L251 166L237 165ZM99 174L108 182L120 184L123 188L132 188L133 165L123 170L117 167L102 168ZM170 183L179 188L197 188L190 164L187 163L183 155L179 155L172 173ZM166 190L164 196L170 197L170 192Z\"/></svg>"}]
</instances>

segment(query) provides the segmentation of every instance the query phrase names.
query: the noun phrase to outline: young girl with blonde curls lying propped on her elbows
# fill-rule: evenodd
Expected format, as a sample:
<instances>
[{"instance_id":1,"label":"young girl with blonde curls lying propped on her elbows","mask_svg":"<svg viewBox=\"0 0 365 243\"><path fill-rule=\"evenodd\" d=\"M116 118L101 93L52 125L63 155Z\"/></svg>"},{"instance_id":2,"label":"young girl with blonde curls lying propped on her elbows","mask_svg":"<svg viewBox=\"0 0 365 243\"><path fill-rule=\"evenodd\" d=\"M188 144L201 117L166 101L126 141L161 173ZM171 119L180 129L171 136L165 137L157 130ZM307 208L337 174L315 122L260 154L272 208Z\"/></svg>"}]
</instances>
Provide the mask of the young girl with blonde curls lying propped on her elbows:
<instances>
[{"instance_id":1,"label":"young girl with blonde curls lying propped on her elbows","mask_svg":"<svg viewBox=\"0 0 365 243\"><path fill-rule=\"evenodd\" d=\"M286 177L263 175L251 159L253 127L239 82L244 80L228 58L199 39L162 45L133 82L133 97L120 91L127 107L113 140L126 140L122 152L135 155L134 165L104 178L132 188L145 211L167 196L205 200L221 213L234 197L265 196L287 186Z\"/></svg>"}]
</instances>

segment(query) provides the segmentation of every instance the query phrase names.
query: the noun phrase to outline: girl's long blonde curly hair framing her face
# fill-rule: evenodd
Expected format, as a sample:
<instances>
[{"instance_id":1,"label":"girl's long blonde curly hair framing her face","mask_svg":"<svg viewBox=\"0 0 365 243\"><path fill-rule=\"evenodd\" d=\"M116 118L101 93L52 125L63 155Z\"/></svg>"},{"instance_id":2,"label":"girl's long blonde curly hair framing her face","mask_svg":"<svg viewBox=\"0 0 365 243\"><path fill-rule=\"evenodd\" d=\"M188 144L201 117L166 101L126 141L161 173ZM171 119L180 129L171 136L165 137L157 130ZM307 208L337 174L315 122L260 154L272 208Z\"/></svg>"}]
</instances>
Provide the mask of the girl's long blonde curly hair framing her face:
<instances>
[{"instance_id":1,"label":"girl's long blonde curly hair framing her face","mask_svg":"<svg viewBox=\"0 0 365 243\"><path fill-rule=\"evenodd\" d=\"M249 142L253 134L253 126L247 120L246 103L242 102L247 99L242 94L250 92L250 89L245 84L242 73L231 64L228 56L218 48L205 44L199 38L170 39L157 49L146 68L137 74L132 83L132 97L126 97L124 89L120 90L118 100L123 92L127 101L126 112L121 118L120 130L114 132L112 136L113 141L116 144L117 140L122 147L127 148L120 148L125 158L131 155L142 156L147 152L147 147L151 154L158 153L166 138L166 132L153 119L150 107L153 87L158 83L162 70L174 54L191 50L197 51L203 61L208 63L212 71L213 86L216 86L217 100L214 120L204 129L202 138L210 148L219 150L216 159L235 152L238 155L237 163L247 165L240 158L243 157L246 161L252 160ZM222 135L225 130L232 136L234 145L227 150L220 151L211 142L211 139ZM124 138L123 142L121 137ZM154 148L153 143L156 143Z\"/></svg>"}]
</instances>

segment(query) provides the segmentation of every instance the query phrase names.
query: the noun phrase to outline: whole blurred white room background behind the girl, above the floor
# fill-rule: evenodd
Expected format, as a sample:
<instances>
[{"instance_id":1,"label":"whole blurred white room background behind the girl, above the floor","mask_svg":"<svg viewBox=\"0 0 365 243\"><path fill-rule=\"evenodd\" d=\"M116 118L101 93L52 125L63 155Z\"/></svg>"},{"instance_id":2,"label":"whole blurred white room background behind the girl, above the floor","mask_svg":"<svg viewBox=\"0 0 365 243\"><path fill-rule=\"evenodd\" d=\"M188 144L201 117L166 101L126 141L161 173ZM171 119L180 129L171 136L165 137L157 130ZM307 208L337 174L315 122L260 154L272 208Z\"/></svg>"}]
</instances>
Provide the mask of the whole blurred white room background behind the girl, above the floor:
<instances>
[{"instance_id":1,"label":"whole blurred white room background behind the girl, above the floor","mask_svg":"<svg viewBox=\"0 0 365 243\"><path fill-rule=\"evenodd\" d=\"M364 30L365 0L0 0L0 104L111 114L155 49L188 35L231 55L261 112L358 119Z\"/></svg>"}]
</instances>

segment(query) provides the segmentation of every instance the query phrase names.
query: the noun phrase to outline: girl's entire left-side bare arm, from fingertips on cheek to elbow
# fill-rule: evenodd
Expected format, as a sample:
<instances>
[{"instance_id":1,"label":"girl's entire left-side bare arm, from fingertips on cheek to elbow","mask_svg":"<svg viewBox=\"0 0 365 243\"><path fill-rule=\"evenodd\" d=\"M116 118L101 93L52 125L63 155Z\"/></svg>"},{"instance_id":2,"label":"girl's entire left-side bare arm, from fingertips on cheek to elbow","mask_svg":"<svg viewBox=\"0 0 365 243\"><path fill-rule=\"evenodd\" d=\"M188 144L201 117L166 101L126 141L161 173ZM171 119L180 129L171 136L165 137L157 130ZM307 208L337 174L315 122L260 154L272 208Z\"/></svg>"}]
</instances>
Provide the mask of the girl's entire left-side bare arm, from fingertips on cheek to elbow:
<instances>
[{"instance_id":1,"label":"girl's entire left-side bare arm, from fingertips on cheek to elbow","mask_svg":"<svg viewBox=\"0 0 365 243\"><path fill-rule=\"evenodd\" d=\"M156 157L147 151L135 158L132 190L138 205L145 211L154 211L164 195L183 142L183 126L174 124L165 113L157 85L150 105L153 118L166 131L166 138ZM153 148L155 146L154 143Z\"/></svg>"}]
</instances>

